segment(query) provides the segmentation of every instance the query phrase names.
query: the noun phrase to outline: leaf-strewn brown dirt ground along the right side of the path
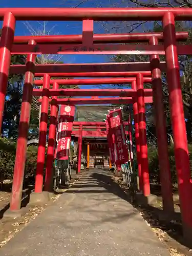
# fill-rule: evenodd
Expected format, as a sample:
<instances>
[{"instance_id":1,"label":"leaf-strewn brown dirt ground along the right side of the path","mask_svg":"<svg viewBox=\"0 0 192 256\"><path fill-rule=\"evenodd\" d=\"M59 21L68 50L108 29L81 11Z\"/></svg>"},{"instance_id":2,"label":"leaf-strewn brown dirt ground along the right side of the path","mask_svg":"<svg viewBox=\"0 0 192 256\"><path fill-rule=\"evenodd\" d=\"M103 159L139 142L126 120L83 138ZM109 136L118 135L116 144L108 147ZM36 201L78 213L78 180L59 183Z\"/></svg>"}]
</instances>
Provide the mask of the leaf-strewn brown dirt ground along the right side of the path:
<instances>
[{"instance_id":1,"label":"leaf-strewn brown dirt ground along the right side of the path","mask_svg":"<svg viewBox=\"0 0 192 256\"><path fill-rule=\"evenodd\" d=\"M121 189L123 189L126 194L129 194L127 186L125 186L122 182L122 178L114 176L113 180L119 184ZM146 221L147 225L152 228L158 238L166 244L170 255L191 256L192 249L189 249L184 245L182 237L179 196L177 194L177 190L174 191L173 195L176 218L171 220L170 223L167 223L165 221L159 220L158 212L163 210L160 189L156 186L154 188L154 185L151 187L153 187L152 194L157 195L157 203L148 207L141 207L138 205L134 205L134 207L140 211L143 219Z\"/></svg>"}]
</instances>

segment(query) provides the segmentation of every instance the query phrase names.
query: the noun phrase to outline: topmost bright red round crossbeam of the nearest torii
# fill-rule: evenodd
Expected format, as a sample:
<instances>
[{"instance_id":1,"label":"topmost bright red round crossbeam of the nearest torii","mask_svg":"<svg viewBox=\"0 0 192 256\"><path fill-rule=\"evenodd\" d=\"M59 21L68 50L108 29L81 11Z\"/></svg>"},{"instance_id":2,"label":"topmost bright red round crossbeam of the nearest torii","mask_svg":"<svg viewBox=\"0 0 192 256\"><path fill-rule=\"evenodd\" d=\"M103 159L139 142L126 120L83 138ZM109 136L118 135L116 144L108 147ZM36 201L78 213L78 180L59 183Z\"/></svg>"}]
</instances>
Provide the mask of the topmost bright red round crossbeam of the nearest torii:
<instances>
[{"instance_id":1,"label":"topmost bright red round crossbeam of the nearest torii","mask_svg":"<svg viewBox=\"0 0 192 256\"><path fill-rule=\"evenodd\" d=\"M171 13L176 20L192 20L190 8L0 8L0 18L11 12L17 20L162 20Z\"/></svg>"}]
</instances>

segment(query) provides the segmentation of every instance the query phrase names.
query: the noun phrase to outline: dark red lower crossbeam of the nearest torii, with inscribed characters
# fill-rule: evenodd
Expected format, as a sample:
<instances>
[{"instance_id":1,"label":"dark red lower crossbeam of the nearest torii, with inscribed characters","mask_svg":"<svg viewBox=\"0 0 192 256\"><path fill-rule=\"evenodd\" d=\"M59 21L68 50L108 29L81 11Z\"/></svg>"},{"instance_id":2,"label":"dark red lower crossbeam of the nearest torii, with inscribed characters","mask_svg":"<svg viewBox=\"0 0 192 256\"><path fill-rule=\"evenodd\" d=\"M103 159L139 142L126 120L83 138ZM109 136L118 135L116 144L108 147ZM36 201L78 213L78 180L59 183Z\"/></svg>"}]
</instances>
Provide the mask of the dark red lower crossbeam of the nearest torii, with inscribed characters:
<instances>
[{"instance_id":1,"label":"dark red lower crossbeam of the nearest torii, with inscribed characters","mask_svg":"<svg viewBox=\"0 0 192 256\"><path fill-rule=\"evenodd\" d=\"M191 55L191 45L185 46L176 44L179 55ZM115 55L165 55L163 45L131 45L131 44L93 44L93 45L38 45L36 47L30 45L13 45L11 54L115 54Z\"/></svg>"}]
</instances>

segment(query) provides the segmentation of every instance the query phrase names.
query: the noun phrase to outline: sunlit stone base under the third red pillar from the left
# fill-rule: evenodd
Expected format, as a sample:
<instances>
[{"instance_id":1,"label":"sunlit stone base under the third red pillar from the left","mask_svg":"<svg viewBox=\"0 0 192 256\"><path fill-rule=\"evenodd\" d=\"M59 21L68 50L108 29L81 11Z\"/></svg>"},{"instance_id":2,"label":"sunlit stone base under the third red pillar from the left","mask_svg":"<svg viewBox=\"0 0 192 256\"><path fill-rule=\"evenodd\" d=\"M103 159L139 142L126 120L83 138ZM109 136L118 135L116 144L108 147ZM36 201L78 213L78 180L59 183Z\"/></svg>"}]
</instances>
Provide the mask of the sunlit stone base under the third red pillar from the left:
<instances>
[{"instance_id":1,"label":"sunlit stone base under the third red pillar from the left","mask_svg":"<svg viewBox=\"0 0 192 256\"><path fill-rule=\"evenodd\" d=\"M48 191L42 191L41 193L31 193L29 204L35 205L35 204L47 204L52 197L52 193Z\"/></svg>"}]
</instances>

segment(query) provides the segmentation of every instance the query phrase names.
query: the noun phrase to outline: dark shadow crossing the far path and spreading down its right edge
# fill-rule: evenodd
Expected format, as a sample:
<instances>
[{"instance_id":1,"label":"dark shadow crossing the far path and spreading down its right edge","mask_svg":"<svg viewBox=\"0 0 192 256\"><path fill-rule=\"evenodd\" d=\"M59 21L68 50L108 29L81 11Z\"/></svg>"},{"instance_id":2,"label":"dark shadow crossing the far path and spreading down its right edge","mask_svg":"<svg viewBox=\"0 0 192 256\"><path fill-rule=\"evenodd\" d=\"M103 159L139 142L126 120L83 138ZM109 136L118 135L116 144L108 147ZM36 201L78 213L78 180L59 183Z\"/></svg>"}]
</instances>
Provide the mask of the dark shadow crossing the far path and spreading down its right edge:
<instances>
[{"instance_id":1,"label":"dark shadow crossing the far path and spreading down its right edge","mask_svg":"<svg viewBox=\"0 0 192 256\"><path fill-rule=\"evenodd\" d=\"M82 185L77 184L73 187L74 189L72 191L68 191L67 193L113 193L119 198L131 203L135 209L142 212L143 219L150 223L150 226L152 228L160 228L162 231L165 231L170 236L170 238L174 239L172 241L173 247L181 247L180 245L178 245L178 243L186 246L182 235L180 212L175 212L175 215L173 216L173 220L171 222L159 220L159 216L164 214L163 210L151 205L148 205L147 207L140 207L136 203L133 204L131 197L129 196L129 194L127 194L127 191L123 191L119 184L113 180L112 174L110 172L92 172L90 173L89 178L84 180L80 179L80 182L81 181L83 182ZM87 181L87 183L84 183L85 181ZM90 190L88 189L89 187ZM92 189L94 187L103 187L105 190ZM78 190L78 188L85 189ZM183 249L185 251L185 248Z\"/></svg>"}]
</instances>

